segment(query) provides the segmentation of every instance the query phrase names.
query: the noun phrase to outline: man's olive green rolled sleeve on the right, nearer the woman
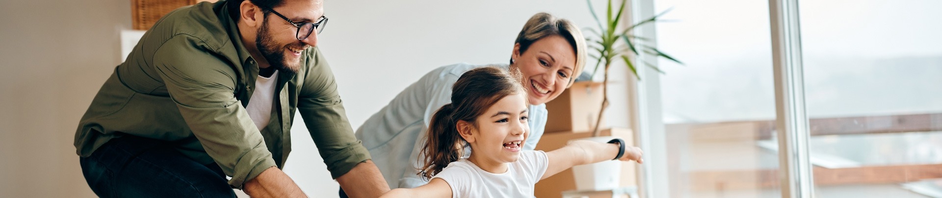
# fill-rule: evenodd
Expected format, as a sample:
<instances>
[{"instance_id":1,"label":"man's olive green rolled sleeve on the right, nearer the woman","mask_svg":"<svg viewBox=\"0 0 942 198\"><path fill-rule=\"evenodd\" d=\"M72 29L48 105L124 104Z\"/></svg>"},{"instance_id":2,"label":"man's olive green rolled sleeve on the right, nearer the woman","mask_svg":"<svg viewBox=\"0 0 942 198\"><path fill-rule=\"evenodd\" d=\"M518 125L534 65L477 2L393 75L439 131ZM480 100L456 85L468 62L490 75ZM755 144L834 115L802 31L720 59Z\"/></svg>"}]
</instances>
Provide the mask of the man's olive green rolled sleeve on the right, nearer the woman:
<instances>
[{"instance_id":1,"label":"man's olive green rolled sleeve on the right, nearer the woman","mask_svg":"<svg viewBox=\"0 0 942 198\"><path fill-rule=\"evenodd\" d=\"M347 174L358 163L370 160L369 151L353 134L333 71L315 48L314 64L303 71L298 112L334 179Z\"/></svg>"}]
</instances>

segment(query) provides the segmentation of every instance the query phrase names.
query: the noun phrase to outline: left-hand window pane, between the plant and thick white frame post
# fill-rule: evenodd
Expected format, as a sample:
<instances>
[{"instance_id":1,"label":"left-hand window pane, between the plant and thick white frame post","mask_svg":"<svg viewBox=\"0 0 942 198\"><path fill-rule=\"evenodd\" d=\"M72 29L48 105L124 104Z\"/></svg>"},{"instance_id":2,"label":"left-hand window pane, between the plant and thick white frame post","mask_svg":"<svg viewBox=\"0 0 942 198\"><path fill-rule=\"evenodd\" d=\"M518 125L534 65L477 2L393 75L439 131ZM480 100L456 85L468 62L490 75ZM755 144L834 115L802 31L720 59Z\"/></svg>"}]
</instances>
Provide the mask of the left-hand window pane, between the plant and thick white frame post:
<instances>
[{"instance_id":1,"label":"left-hand window pane, between the plant and thick white frame post","mask_svg":"<svg viewBox=\"0 0 942 198\"><path fill-rule=\"evenodd\" d=\"M781 197L768 2L656 0L671 197ZM642 79L642 81L645 79ZM656 175L657 176L657 175Z\"/></svg>"}]
</instances>

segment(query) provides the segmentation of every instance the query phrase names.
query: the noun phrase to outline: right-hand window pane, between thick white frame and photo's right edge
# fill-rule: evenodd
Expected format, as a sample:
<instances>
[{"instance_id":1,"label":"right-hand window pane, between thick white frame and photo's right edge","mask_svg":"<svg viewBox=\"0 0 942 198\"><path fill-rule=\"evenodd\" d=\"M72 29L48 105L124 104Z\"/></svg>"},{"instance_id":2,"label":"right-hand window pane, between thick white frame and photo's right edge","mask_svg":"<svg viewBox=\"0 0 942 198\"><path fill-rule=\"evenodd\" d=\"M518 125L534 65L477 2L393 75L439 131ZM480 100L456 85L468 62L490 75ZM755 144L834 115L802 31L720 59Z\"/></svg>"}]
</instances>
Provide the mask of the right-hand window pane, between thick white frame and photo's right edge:
<instances>
[{"instance_id":1,"label":"right-hand window pane, between thick white frame and photo's right edge","mask_svg":"<svg viewBox=\"0 0 942 198\"><path fill-rule=\"evenodd\" d=\"M819 197L942 197L940 1L802 1Z\"/></svg>"}]
</instances>

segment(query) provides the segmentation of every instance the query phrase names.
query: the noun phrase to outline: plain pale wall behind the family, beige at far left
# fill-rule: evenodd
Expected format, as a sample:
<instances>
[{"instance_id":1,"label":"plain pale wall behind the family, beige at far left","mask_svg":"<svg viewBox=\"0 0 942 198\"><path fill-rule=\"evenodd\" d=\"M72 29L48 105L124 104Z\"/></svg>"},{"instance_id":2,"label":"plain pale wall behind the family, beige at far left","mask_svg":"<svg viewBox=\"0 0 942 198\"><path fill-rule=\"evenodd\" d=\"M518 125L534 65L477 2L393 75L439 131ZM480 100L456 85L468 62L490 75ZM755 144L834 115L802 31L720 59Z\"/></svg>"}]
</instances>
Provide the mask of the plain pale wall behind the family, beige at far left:
<instances>
[{"instance_id":1,"label":"plain pale wall behind the family, beige at far left","mask_svg":"<svg viewBox=\"0 0 942 198\"><path fill-rule=\"evenodd\" d=\"M354 129L431 69L506 63L513 39L536 12L594 24L584 1L329 0L325 9L331 22L319 45ZM0 19L0 193L93 197L73 134L95 92L121 63L119 34L131 27L129 1L5 0ZM611 117L626 120L619 102L613 103ZM306 129L292 132L285 172L313 196L335 196L337 185Z\"/></svg>"}]
</instances>

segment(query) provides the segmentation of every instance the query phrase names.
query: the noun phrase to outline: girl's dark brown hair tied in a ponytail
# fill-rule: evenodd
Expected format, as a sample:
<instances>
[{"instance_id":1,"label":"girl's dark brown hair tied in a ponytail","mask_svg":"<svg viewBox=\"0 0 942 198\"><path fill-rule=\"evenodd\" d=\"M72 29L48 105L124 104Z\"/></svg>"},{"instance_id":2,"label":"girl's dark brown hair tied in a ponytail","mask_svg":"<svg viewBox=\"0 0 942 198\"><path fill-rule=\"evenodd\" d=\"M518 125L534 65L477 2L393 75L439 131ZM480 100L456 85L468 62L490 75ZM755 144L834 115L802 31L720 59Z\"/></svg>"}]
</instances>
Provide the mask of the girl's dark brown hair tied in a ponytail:
<instances>
[{"instance_id":1,"label":"girl's dark brown hair tied in a ponytail","mask_svg":"<svg viewBox=\"0 0 942 198\"><path fill-rule=\"evenodd\" d=\"M464 120L477 128L475 119L498 100L513 94L527 94L517 71L493 67L464 72L451 87L451 103L431 116L428 139L422 148L425 163L419 175L431 178L442 172L448 163L459 160L465 141L456 128Z\"/></svg>"}]
</instances>

